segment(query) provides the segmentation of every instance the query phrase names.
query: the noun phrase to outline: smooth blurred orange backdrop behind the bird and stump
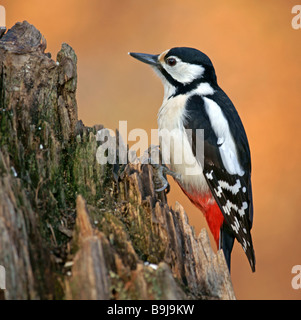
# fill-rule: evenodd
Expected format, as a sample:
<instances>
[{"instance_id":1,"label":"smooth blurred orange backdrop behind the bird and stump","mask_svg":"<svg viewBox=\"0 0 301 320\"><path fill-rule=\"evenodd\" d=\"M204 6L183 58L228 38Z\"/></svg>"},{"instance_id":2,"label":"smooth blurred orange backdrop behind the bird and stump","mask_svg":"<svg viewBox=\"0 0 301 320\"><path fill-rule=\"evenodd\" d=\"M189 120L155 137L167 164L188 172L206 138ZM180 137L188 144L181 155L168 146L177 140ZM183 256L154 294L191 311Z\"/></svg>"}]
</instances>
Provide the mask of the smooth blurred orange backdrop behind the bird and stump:
<instances>
[{"instance_id":1,"label":"smooth blurred orange backdrop behind the bird and stump","mask_svg":"<svg viewBox=\"0 0 301 320\"><path fill-rule=\"evenodd\" d=\"M291 286L301 265L301 29L290 0L7 0L7 27L27 20L55 59L61 43L78 55L79 118L115 129L157 128L163 88L128 51L160 53L190 46L212 59L220 86L238 109L252 152L257 271L240 245L232 258L238 299L300 299ZM149 135L150 136L150 135ZM150 141L149 141L150 142ZM172 183L196 233L202 214ZM215 246L211 237L211 243Z\"/></svg>"}]
</instances>

